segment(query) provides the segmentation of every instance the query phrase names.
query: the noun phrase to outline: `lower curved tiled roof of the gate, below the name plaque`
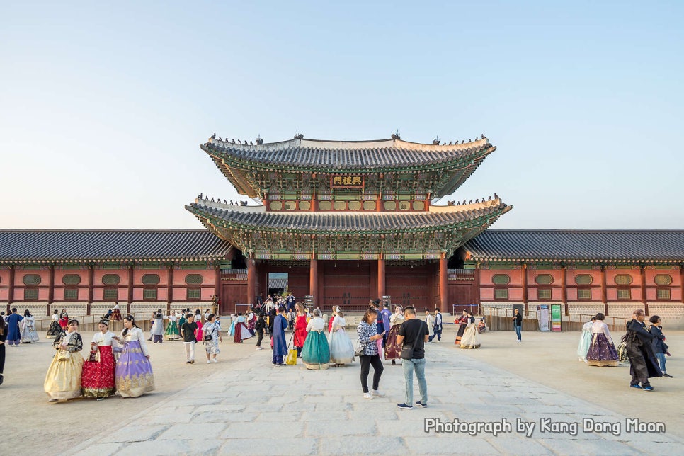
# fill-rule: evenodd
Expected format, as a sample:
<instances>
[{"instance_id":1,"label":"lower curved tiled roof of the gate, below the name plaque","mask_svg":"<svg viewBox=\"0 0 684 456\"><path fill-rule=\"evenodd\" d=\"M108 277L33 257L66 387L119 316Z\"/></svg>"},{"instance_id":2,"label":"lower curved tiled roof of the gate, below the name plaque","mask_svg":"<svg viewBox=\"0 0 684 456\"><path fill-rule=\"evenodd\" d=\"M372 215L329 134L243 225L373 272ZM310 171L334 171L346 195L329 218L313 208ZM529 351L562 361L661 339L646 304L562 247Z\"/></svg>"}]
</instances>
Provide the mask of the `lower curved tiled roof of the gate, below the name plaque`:
<instances>
[{"instance_id":1,"label":"lower curved tiled roof of the gate, below the name plaque","mask_svg":"<svg viewBox=\"0 0 684 456\"><path fill-rule=\"evenodd\" d=\"M186 206L196 217L221 220L234 227L289 232L400 232L450 227L480 217L498 217L511 209L501 200L436 208L430 212L266 212L263 206L240 207L195 200ZM443 210L437 210L443 209ZM494 220L492 220L494 222Z\"/></svg>"}]
</instances>

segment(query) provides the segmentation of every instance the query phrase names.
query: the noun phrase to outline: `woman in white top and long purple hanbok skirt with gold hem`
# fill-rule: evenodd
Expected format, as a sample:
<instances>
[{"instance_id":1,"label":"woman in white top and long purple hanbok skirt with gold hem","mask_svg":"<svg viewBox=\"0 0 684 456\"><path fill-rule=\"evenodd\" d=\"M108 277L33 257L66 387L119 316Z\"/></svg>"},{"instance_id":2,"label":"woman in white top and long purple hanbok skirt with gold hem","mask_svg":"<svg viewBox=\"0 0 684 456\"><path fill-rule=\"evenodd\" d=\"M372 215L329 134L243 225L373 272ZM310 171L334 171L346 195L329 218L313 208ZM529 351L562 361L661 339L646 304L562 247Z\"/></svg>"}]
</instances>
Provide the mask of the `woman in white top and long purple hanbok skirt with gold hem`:
<instances>
[{"instance_id":1,"label":"woman in white top and long purple hanbok skirt with gold hem","mask_svg":"<svg viewBox=\"0 0 684 456\"><path fill-rule=\"evenodd\" d=\"M123 350L116 362L116 389L121 397L138 397L154 390L154 375L142 329L130 315L123 319L124 330L116 338Z\"/></svg>"}]
</instances>

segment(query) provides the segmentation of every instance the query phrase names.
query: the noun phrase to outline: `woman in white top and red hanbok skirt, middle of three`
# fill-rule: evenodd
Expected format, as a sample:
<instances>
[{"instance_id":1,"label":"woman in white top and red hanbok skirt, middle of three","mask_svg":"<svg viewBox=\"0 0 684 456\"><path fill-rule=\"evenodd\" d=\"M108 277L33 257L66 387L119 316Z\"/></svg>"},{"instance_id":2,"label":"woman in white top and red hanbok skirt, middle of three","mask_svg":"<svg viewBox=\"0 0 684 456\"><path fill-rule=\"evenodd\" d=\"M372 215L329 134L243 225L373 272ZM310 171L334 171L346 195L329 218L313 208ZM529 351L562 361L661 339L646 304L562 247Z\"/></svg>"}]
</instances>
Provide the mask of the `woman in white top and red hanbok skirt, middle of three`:
<instances>
[{"instance_id":1,"label":"woman in white top and red hanbok skirt, middle of three","mask_svg":"<svg viewBox=\"0 0 684 456\"><path fill-rule=\"evenodd\" d=\"M83 364L81 388L84 397L96 397L101 401L116 393L115 361L112 351L115 334L109 331L107 320L101 321L98 328L100 332L93 336L89 358Z\"/></svg>"}]
</instances>

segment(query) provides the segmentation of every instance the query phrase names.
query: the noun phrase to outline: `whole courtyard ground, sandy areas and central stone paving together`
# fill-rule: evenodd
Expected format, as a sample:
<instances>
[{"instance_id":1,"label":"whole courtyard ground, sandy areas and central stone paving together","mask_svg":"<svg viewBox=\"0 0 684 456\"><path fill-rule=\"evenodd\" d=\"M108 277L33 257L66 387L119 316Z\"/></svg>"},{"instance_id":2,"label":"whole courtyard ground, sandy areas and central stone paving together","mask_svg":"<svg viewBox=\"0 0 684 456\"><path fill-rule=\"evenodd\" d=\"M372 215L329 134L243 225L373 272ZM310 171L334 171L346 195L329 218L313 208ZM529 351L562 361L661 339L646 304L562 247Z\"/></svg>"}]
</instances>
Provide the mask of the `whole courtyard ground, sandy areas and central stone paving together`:
<instances>
[{"instance_id":1,"label":"whole courtyard ground, sandy areas and central stone paving together","mask_svg":"<svg viewBox=\"0 0 684 456\"><path fill-rule=\"evenodd\" d=\"M655 379L656 391L642 392L628 387L628 366L588 367L576 360L579 333L528 331L515 343L513 331L498 331L481 335L481 349L460 350L447 326L443 341L427 349L429 407L411 411L396 406L404 401L400 366L385 363L380 389L387 397L368 401L358 363L324 371L307 371L301 363L272 367L270 350L256 351L254 339L235 344L232 338L224 338L220 363L211 365L203 362L201 344L194 365L184 363L181 342L150 344L156 391L143 397L49 404L42 382L54 352L42 338L6 348L4 431L20 437L13 451L50 455L681 453L678 347L684 333L667 334L674 353L668 372L675 378ZM89 341L92 333L83 336ZM416 382L414 388L417 401ZM513 429L496 436L425 433L425 418L505 418ZM620 423L620 433L583 432L583 418ZM627 433L626 418L663 422L666 433ZM535 423L530 437L517 431L517 419ZM578 433L542 433L545 419L579 423Z\"/></svg>"}]
</instances>

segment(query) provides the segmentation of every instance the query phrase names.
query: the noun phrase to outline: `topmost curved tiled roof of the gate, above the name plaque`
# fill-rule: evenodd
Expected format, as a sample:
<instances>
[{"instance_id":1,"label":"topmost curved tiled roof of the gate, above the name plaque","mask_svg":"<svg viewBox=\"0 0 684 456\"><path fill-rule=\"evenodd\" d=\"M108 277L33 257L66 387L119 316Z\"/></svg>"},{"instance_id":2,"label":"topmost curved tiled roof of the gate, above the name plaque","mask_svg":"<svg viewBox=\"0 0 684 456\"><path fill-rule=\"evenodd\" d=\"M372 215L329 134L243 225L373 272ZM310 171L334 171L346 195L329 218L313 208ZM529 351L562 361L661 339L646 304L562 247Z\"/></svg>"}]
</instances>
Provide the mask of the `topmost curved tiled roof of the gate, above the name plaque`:
<instances>
[{"instance_id":1,"label":"topmost curved tiled roof of the gate, above the name plaque","mask_svg":"<svg viewBox=\"0 0 684 456\"><path fill-rule=\"evenodd\" d=\"M401 139L377 141L321 141L290 139L269 144L236 144L210 138L200 146L207 154L246 166L307 169L377 170L449 165L483 159L496 147L486 137L466 144L419 144Z\"/></svg>"}]
</instances>

